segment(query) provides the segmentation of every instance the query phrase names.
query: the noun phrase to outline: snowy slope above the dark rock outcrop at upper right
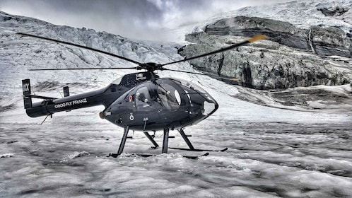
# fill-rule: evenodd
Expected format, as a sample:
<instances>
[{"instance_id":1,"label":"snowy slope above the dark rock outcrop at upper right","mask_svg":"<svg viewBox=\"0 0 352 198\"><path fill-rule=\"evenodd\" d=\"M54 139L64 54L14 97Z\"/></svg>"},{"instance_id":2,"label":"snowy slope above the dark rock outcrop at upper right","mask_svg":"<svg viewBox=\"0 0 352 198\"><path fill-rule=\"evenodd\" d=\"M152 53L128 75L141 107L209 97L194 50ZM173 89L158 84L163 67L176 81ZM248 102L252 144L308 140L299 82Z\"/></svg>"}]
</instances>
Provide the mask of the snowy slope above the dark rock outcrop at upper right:
<instances>
[{"instance_id":1,"label":"snowy slope above the dark rock outcrop at upper right","mask_svg":"<svg viewBox=\"0 0 352 198\"><path fill-rule=\"evenodd\" d=\"M336 14L335 16L324 16L320 9L327 8L334 11L336 8L346 8L346 13ZM351 33L352 31L352 2L350 0L334 1L290 1L281 4L267 6L251 6L240 8L236 11L219 13L206 21L196 24L194 31L201 31L205 25L214 23L221 18L234 16L256 16L269 18L278 21L285 21L295 25L297 28L307 29L312 25L336 26Z\"/></svg>"}]
</instances>

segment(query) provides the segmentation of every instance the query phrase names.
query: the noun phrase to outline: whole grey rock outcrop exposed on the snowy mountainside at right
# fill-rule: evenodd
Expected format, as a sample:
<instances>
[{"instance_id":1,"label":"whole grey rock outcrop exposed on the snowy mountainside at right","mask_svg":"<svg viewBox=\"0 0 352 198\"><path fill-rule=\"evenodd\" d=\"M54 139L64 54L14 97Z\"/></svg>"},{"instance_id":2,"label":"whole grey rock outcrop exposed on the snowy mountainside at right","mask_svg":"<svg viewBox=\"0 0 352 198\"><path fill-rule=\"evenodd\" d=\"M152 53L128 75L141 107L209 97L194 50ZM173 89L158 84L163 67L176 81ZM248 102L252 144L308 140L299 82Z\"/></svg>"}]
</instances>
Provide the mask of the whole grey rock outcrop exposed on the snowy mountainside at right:
<instances>
[{"instance_id":1,"label":"whole grey rock outcrop exposed on the snowy mountainside at right","mask_svg":"<svg viewBox=\"0 0 352 198\"><path fill-rule=\"evenodd\" d=\"M314 26L305 30L287 22L237 16L207 25L204 32L187 35L187 41L193 44L179 52L192 57L225 47L228 40L238 42L257 34L269 39L194 59L191 64L204 71L238 78L241 85L257 89L334 86L350 82L351 62L327 58L352 57L351 37L336 27Z\"/></svg>"}]
</instances>

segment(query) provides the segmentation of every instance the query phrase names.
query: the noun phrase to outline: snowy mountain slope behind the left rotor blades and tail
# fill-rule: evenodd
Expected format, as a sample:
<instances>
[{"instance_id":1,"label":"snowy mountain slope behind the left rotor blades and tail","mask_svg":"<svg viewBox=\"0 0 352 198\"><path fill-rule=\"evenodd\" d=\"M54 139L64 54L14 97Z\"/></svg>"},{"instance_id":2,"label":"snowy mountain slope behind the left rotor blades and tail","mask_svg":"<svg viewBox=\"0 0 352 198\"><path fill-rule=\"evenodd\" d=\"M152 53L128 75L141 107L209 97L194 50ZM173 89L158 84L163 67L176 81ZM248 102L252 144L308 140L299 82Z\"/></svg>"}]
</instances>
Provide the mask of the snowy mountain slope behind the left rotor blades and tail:
<instances>
[{"instance_id":1,"label":"snowy mountain slope behind the left rotor blades and tail","mask_svg":"<svg viewBox=\"0 0 352 198\"><path fill-rule=\"evenodd\" d=\"M179 45L174 43L148 43L132 41L117 35L97 33L95 30L76 29L67 26L56 26L34 18L10 16L0 13L1 35L1 95L12 98L11 93L20 95L20 81L31 78L33 85L39 82L55 81L60 83L83 83L95 88L105 86L119 76L132 71L28 71L44 68L77 68L77 67L131 67L136 66L121 59L105 54L82 50L78 47L58 45L16 33L33 33L59 40L75 42L88 47L106 50L120 56L134 59L137 62L165 63L182 59L176 52ZM192 70L189 64L170 66L174 69ZM165 72L166 75L169 75ZM182 74L181 74L182 75ZM38 85L39 86L39 85ZM59 86L59 84L57 84ZM34 86L34 90L37 88ZM54 93L58 95L58 93ZM9 96L9 97L8 97Z\"/></svg>"}]
</instances>

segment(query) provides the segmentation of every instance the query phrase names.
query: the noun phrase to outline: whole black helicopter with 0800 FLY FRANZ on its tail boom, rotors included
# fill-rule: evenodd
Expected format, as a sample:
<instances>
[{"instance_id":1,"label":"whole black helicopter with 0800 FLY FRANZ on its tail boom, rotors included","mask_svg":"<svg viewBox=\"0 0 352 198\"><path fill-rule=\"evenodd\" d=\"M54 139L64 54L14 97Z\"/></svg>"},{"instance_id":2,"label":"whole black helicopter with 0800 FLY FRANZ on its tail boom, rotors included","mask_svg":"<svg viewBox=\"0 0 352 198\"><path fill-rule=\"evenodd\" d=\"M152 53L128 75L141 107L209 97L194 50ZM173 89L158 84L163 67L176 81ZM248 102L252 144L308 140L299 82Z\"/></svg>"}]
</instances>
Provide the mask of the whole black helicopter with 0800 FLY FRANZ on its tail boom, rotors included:
<instances>
[{"instance_id":1,"label":"whole black helicopter with 0800 FLY FRANZ on its tail boom, rotors included","mask_svg":"<svg viewBox=\"0 0 352 198\"><path fill-rule=\"evenodd\" d=\"M170 129L178 129L189 148L180 148L189 151L211 151L206 149L196 149L184 133L184 127L196 124L209 117L218 109L218 103L214 98L206 93L203 88L196 84L177 78L160 78L155 71L168 70L164 66L179 62L186 62L191 59L206 57L211 54L232 50L235 47L246 45L247 43L265 39L264 35L255 35L244 42L230 45L213 52L201 54L195 57L185 58L166 64L156 64L153 62L140 63L126 57L121 57L110 52L96 50L91 47L77 45L71 42L64 42L52 38L31 35L28 33L18 33L22 36L36 37L43 40L59 42L66 45L82 47L103 54L108 54L127 62L137 64L130 68L81 68L82 69L144 69L143 72L124 75L113 81L109 86L98 91L91 91L78 95L69 95L69 87L64 87L64 98L52 98L47 96L33 95L30 88L30 79L22 81L23 100L25 111L30 117L52 116L55 112L68 111L95 105L104 105L105 110L100 112L100 117L106 119L119 127L124 127L121 144L117 153L110 153L110 156L117 157L124 150L129 130L142 131L152 142L153 148L159 145L149 132L163 130L162 153L168 153L168 139ZM76 69L30 69L30 71L40 70L76 70ZM180 71L189 74L199 74L188 71ZM201 74L204 75L204 74ZM219 78L219 76L215 76ZM42 99L41 102L32 103L32 98Z\"/></svg>"}]
</instances>

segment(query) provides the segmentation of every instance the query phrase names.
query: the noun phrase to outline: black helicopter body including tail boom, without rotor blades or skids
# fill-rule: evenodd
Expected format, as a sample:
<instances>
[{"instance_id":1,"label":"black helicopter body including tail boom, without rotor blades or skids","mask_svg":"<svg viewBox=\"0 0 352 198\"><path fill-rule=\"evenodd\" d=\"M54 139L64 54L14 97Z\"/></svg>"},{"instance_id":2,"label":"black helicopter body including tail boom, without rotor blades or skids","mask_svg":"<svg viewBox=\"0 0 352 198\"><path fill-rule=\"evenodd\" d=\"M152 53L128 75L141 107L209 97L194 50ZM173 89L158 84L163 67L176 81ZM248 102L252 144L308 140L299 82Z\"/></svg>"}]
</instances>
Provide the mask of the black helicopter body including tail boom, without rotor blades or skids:
<instances>
[{"instance_id":1,"label":"black helicopter body including tail boom, without rotor blades or skids","mask_svg":"<svg viewBox=\"0 0 352 198\"><path fill-rule=\"evenodd\" d=\"M30 117L104 105L101 118L139 131L186 127L206 119L218 109L216 100L196 84L159 78L150 72L127 74L98 91L64 98L30 95L29 80L24 80L23 95ZM32 98L44 100L31 103Z\"/></svg>"}]
</instances>

